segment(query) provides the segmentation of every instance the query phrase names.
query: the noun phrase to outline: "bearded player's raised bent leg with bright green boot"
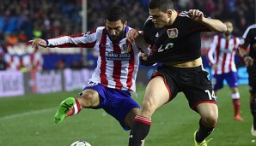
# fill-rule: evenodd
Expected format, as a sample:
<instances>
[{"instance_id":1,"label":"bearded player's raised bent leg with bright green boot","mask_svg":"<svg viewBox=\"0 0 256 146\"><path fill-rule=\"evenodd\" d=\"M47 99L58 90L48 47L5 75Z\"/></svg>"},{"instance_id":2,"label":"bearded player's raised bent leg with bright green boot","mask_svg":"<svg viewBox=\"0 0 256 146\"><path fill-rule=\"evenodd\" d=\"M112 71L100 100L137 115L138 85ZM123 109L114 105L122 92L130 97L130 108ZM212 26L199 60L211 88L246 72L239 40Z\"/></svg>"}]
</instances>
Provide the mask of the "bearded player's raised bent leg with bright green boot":
<instances>
[{"instance_id":1,"label":"bearded player's raised bent leg with bright green boot","mask_svg":"<svg viewBox=\"0 0 256 146\"><path fill-rule=\"evenodd\" d=\"M90 87L92 88L92 87ZM82 108L93 108L100 103L100 96L94 89L85 89L82 91L81 96L76 98L68 97L60 103L56 114L54 115L55 123L60 123L65 117L79 114Z\"/></svg>"}]
</instances>

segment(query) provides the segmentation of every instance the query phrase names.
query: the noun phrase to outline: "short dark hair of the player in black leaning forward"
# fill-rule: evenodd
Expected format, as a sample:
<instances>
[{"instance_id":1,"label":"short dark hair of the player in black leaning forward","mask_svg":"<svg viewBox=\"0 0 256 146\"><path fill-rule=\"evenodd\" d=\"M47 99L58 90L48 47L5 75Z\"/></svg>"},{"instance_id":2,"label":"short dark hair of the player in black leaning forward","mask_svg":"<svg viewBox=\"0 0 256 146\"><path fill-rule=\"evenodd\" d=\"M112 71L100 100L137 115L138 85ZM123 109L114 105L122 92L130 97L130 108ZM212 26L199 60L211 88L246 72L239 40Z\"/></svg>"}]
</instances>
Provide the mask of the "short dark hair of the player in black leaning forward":
<instances>
[{"instance_id":1,"label":"short dark hair of the player in black leaning forward","mask_svg":"<svg viewBox=\"0 0 256 146\"><path fill-rule=\"evenodd\" d=\"M149 9L160 9L166 12L168 9L174 9L172 0L149 0Z\"/></svg>"}]
</instances>

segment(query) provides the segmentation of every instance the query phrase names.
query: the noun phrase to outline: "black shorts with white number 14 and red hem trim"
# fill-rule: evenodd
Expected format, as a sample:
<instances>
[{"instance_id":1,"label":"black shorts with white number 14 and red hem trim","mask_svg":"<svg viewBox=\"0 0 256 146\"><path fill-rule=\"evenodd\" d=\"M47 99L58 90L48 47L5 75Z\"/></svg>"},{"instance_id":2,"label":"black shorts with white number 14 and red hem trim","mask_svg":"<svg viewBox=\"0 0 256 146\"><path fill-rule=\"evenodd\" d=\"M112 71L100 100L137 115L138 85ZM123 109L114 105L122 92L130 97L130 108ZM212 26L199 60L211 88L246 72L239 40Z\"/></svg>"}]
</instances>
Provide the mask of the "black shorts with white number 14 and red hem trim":
<instances>
[{"instance_id":1,"label":"black shorts with white number 14 and red hem trim","mask_svg":"<svg viewBox=\"0 0 256 146\"><path fill-rule=\"evenodd\" d=\"M173 100L179 92L183 92L189 102L190 108L197 111L196 107L202 102L216 104L216 97L212 90L210 80L203 67L157 67L151 79L162 76Z\"/></svg>"}]
</instances>

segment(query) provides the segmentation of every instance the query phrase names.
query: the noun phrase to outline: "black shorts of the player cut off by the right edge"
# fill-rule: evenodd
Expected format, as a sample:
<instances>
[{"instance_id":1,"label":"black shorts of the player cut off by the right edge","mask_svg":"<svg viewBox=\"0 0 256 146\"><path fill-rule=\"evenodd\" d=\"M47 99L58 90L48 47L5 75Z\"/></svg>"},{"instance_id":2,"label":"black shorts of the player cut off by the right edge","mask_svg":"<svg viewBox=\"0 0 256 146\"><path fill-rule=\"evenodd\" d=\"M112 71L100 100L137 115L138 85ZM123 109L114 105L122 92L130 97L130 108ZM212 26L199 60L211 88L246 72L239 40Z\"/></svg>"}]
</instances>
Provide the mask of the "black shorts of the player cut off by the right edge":
<instances>
[{"instance_id":1,"label":"black shorts of the player cut off by the right edge","mask_svg":"<svg viewBox=\"0 0 256 146\"><path fill-rule=\"evenodd\" d=\"M250 92L255 94L256 93L256 68L255 66L247 67L247 73L249 75L249 86Z\"/></svg>"}]
</instances>

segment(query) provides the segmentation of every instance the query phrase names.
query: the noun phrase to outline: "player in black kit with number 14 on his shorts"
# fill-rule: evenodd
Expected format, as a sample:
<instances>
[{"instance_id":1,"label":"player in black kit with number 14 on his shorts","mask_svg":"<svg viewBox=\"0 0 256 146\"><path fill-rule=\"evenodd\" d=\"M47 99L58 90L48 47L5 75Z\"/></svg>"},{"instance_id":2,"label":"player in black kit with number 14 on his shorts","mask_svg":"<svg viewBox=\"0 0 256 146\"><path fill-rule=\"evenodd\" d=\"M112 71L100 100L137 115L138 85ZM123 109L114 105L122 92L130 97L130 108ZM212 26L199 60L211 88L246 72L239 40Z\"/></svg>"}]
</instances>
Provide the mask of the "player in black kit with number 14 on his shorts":
<instances>
[{"instance_id":1,"label":"player in black kit with number 14 on his shorts","mask_svg":"<svg viewBox=\"0 0 256 146\"><path fill-rule=\"evenodd\" d=\"M146 87L129 145L139 146L149 133L155 110L183 92L189 106L201 116L194 143L205 146L205 137L216 126L218 108L208 73L202 65L200 32L226 32L227 26L220 20L206 18L198 9L176 11L172 0L150 0L149 15L143 32L131 30L127 38L131 42L144 38L151 52L142 55L142 63L162 62L162 67L157 67Z\"/></svg>"}]
</instances>

